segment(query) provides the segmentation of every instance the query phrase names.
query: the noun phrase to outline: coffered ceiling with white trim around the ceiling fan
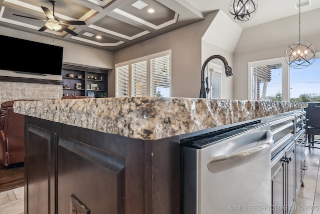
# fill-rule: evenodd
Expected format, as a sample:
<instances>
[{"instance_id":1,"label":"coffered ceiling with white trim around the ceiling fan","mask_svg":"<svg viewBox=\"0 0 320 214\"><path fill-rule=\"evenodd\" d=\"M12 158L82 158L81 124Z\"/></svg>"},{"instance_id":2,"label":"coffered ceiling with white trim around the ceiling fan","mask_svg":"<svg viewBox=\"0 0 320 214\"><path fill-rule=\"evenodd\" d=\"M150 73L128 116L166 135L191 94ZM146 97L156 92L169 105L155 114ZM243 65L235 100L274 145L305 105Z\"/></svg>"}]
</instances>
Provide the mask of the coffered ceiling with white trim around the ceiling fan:
<instances>
[{"instance_id":1,"label":"coffered ceiling with white trim around the ceiling fan","mask_svg":"<svg viewBox=\"0 0 320 214\"><path fill-rule=\"evenodd\" d=\"M189 4L181 5L172 0L55 2L54 16L62 22L85 22L85 25L68 25L68 29L77 36L63 29L38 31L47 20L41 6L53 14L53 5L47 0L0 0L0 26L115 51L203 20L203 15L196 10L194 12ZM149 9L154 13L148 13Z\"/></svg>"}]
</instances>

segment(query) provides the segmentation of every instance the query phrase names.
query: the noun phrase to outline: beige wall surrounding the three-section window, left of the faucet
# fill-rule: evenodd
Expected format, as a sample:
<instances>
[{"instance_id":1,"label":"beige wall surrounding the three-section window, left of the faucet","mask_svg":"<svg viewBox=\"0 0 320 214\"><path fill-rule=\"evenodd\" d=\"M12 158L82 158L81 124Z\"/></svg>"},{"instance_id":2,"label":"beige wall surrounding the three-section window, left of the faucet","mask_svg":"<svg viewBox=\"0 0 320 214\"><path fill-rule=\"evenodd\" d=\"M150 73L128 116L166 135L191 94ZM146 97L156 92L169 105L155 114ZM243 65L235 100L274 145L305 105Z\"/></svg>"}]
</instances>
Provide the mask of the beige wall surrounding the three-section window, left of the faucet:
<instances>
[{"instance_id":1,"label":"beige wall surrounding the three-section window, left of the faucet","mask_svg":"<svg viewBox=\"0 0 320 214\"><path fill-rule=\"evenodd\" d=\"M204 21L183 27L114 52L114 64L171 50L172 97L199 97L201 82L201 38L217 12ZM114 80L112 71L110 80ZM112 84L112 85L111 85ZM109 95L114 96L114 81L109 81Z\"/></svg>"}]
</instances>

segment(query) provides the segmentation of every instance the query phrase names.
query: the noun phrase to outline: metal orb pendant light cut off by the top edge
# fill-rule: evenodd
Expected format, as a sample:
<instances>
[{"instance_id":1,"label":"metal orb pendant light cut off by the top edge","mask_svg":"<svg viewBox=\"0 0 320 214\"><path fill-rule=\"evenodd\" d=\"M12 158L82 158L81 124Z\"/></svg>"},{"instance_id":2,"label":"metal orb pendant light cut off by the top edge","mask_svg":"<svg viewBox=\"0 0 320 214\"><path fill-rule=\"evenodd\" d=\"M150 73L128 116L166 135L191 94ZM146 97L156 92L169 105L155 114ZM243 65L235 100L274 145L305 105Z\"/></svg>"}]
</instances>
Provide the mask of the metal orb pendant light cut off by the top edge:
<instances>
[{"instance_id":1,"label":"metal orb pendant light cut off by the top edge","mask_svg":"<svg viewBox=\"0 0 320 214\"><path fill-rule=\"evenodd\" d=\"M232 0L228 14L233 22L244 23L252 19L257 7L257 0Z\"/></svg>"}]
</instances>

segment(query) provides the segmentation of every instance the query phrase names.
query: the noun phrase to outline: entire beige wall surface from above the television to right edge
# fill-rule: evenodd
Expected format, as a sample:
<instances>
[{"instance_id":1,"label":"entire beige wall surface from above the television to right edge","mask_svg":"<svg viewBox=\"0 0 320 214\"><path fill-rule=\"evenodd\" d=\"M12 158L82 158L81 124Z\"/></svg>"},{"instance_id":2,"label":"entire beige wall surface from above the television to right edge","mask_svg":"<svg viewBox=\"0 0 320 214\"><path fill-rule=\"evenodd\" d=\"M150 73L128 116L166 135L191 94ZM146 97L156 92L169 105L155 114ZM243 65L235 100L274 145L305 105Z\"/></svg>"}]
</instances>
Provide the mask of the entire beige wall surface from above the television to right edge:
<instances>
[{"instance_id":1,"label":"entire beige wall surface from above the television to right edge","mask_svg":"<svg viewBox=\"0 0 320 214\"><path fill-rule=\"evenodd\" d=\"M120 62L171 50L173 97L198 97L202 63L208 56L219 54L227 59L233 71L232 77L222 75L222 98L246 100L248 99L248 62L283 57L286 47L298 39L298 16L295 15L244 29L240 37L237 38L230 37L234 34L232 30L234 27L228 26L228 31L219 32L219 29L223 29L221 25L229 24L226 22L226 18L223 18L223 15L218 16L218 19L215 20L218 13L218 11L211 12L206 15L204 21L114 53L67 43L57 38L52 43L52 38L4 27L0 27L0 34L63 46L63 62L108 69L113 69L113 65ZM301 13L301 40L311 41L318 49L320 48L320 28L316 27L314 17L319 16L319 9ZM225 15L225 17L227 16ZM313 21L310 22L309 20ZM211 26L213 21L220 25ZM201 40L209 27L213 32L213 42L207 41L207 38L205 38L205 41ZM217 36L214 33L219 35ZM232 49L233 45L230 46L230 44L236 44L236 47ZM0 75L3 75L3 71ZM109 96L115 94L114 84L114 71L112 71L109 72Z\"/></svg>"}]
</instances>

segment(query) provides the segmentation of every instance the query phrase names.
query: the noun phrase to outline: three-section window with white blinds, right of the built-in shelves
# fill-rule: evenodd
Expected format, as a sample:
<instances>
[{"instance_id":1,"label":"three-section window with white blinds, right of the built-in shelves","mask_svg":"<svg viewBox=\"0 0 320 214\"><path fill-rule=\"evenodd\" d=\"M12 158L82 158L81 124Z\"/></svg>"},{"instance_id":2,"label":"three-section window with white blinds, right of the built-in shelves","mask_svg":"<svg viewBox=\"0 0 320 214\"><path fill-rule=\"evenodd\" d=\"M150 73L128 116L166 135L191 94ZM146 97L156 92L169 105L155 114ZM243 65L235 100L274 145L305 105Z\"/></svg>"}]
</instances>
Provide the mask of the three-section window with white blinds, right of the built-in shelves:
<instances>
[{"instance_id":1,"label":"three-section window with white blinds, right of the built-in shelves","mask_svg":"<svg viewBox=\"0 0 320 214\"><path fill-rule=\"evenodd\" d=\"M170 97L170 59L169 50L116 64L116 97Z\"/></svg>"}]
</instances>

